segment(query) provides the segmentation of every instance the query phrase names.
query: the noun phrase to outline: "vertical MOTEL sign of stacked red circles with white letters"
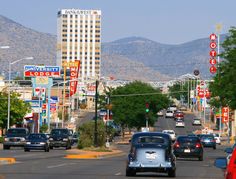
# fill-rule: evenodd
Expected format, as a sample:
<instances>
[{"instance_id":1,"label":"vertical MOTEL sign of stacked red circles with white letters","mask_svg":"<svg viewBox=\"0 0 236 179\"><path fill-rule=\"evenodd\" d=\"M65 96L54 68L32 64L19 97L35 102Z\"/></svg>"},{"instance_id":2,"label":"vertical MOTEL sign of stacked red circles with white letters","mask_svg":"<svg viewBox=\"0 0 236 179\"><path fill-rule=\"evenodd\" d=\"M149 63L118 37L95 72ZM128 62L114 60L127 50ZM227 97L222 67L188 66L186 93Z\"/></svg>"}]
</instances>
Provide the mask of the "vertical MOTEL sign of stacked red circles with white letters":
<instances>
[{"instance_id":1,"label":"vertical MOTEL sign of stacked red circles with white letters","mask_svg":"<svg viewBox=\"0 0 236 179\"><path fill-rule=\"evenodd\" d=\"M210 67L210 72L212 74L216 73L216 56L217 56L217 52L216 52L216 47L217 47L217 43L216 43L216 40L217 40L217 36L216 34L211 34L210 35L210 48L211 48L211 51L209 52L209 55L210 55L210 60L209 60L209 63L211 64L211 67Z\"/></svg>"}]
</instances>

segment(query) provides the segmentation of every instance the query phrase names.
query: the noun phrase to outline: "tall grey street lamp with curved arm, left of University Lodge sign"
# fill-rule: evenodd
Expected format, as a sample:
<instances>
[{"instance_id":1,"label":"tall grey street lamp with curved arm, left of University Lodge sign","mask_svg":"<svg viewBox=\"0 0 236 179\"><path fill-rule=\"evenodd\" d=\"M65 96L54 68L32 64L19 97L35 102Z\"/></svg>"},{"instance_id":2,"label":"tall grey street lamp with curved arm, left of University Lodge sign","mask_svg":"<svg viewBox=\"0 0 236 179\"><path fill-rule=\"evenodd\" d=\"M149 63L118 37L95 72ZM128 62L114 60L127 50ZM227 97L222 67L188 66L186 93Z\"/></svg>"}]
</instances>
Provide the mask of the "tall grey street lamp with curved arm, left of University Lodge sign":
<instances>
[{"instance_id":1,"label":"tall grey street lamp with curved arm, left of University Lodge sign","mask_svg":"<svg viewBox=\"0 0 236 179\"><path fill-rule=\"evenodd\" d=\"M13 61L13 62L9 62L9 71L8 71L8 108L7 108L7 129L10 128L10 108L11 108L11 91L10 91L10 87L11 87L11 65L21 61L21 60L33 60L33 57L25 57L25 58L21 58L19 60Z\"/></svg>"}]
</instances>

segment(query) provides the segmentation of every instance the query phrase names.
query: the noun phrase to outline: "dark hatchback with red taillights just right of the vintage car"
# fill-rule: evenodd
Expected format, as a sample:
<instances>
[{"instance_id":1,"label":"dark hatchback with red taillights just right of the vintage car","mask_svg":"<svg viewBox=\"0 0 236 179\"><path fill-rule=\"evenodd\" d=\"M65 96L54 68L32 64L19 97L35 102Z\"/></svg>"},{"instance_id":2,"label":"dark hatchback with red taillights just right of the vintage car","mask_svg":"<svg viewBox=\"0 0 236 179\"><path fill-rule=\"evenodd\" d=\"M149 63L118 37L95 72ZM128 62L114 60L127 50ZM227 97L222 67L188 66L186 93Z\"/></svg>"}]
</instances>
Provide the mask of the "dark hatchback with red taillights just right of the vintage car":
<instances>
[{"instance_id":1,"label":"dark hatchback with red taillights just right of the vintage car","mask_svg":"<svg viewBox=\"0 0 236 179\"><path fill-rule=\"evenodd\" d=\"M176 157L198 158L203 160L203 146L196 136L179 136L174 143Z\"/></svg>"}]
</instances>

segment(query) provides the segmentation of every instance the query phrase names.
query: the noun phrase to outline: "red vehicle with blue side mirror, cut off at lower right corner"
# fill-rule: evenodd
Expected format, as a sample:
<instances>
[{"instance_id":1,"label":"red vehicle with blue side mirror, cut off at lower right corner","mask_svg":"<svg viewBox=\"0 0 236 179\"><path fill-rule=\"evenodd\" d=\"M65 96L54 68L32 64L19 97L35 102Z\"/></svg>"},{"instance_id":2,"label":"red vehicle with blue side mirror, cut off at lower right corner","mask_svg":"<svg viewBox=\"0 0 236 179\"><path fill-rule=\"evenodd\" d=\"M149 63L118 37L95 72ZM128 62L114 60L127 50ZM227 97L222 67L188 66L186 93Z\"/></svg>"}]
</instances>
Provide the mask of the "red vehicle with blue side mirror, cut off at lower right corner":
<instances>
[{"instance_id":1,"label":"red vehicle with blue side mirror, cut off at lower right corner","mask_svg":"<svg viewBox=\"0 0 236 179\"><path fill-rule=\"evenodd\" d=\"M225 170L224 178L225 179L235 179L236 178L236 149L233 150L233 153L227 164L227 159L225 157L217 158L215 160L215 166Z\"/></svg>"}]
</instances>

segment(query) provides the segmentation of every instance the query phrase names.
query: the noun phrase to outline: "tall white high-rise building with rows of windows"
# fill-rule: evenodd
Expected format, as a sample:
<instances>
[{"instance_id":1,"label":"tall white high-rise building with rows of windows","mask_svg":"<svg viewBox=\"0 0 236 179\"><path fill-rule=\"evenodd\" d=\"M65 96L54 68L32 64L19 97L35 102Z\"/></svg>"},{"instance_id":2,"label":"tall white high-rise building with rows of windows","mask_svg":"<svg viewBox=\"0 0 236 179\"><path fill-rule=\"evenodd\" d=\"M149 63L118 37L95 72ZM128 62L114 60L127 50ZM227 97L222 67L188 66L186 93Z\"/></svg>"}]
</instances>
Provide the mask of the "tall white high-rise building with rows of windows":
<instances>
[{"instance_id":1,"label":"tall white high-rise building with rows of windows","mask_svg":"<svg viewBox=\"0 0 236 179\"><path fill-rule=\"evenodd\" d=\"M101 11L62 9L57 15L57 65L80 60L79 78L100 78Z\"/></svg>"}]
</instances>

